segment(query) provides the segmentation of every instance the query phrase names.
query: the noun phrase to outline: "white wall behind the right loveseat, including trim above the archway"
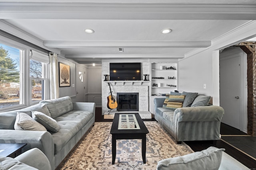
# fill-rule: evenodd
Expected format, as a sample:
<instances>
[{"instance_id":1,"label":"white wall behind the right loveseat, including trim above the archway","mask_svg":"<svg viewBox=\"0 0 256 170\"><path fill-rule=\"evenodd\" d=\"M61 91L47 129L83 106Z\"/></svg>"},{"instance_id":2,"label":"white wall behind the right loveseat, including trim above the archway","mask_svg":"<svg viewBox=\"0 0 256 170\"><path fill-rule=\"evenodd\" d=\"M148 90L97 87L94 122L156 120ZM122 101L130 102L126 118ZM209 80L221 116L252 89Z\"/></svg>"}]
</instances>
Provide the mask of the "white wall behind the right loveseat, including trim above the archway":
<instances>
[{"instance_id":1,"label":"white wall behind the right loveseat, including trim above the archway","mask_svg":"<svg viewBox=\"0 0 256 170\"><path fill-rule=\"evenodd\" d=\"M198 92L213 97L212 104L219 106L219 49L224 49L256 36L256 21L238 27L212 41L205 49L197 49L178 61L178 90ZM203 88L206 84L206 89Z\"/></svg>"}]
</instances>

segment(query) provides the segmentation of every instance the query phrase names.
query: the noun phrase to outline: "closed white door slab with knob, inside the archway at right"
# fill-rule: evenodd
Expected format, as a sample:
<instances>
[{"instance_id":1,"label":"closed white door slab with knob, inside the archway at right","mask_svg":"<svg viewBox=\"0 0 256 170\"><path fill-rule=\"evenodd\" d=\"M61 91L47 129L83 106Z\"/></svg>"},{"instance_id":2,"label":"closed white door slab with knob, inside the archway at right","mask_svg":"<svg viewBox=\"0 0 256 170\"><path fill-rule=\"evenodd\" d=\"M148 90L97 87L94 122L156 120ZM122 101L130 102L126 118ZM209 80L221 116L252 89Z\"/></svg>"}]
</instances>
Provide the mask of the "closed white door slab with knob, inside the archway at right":
<instances>
[{"instance_id":1,"label":"closed white door slab with knob, inside the archway at right","mask_svg":"<svg viewBox=\"0 0 256 170\"><path fill-rule=\"evenodd\" d=\"M222 123L240 129L240 56L220 59L220 106Z\"/></svg>"}]
</instances>

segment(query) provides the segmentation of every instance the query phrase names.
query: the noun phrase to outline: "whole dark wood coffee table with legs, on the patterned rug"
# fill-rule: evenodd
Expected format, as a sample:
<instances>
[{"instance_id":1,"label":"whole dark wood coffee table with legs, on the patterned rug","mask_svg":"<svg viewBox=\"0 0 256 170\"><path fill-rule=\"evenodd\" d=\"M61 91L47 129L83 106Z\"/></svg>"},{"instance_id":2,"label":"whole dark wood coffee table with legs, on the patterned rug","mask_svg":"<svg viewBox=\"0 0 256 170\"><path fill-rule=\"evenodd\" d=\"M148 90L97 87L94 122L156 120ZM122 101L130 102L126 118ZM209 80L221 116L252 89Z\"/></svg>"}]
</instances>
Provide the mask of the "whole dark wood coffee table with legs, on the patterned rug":
<instances>
[{"instance_id":1,"label":"whole dark wood coffee table with legs, on the patterned rug","mask_svg":"<svg viewBox=\"0 0 256 170\"><path fill-rule=\"evenodd\" d=\"M112 134L112 164L116 160L117 139L142 139L142 160L146 163L146 134L149 133L139 113L115 113Z\"/></svg>"}]
</instances>

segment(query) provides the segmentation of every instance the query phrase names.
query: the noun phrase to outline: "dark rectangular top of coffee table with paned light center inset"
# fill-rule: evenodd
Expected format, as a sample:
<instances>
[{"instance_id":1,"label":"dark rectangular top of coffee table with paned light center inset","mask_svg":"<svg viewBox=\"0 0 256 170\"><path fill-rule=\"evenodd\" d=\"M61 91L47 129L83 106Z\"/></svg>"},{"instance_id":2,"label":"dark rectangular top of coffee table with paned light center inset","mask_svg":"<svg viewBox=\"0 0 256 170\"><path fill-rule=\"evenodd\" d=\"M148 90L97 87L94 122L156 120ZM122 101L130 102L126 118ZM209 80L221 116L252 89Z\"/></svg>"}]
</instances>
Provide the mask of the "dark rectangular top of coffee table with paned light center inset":
<instances>
[{"instance_id":1,"label":"dark rectangular top of coffee table with paned light center inset","mask_svg":"<svg viewBox=\"0 0 256 170\"><path fill-rule=\"evenodd\" d=\"M115 113L110 134L149 133L139 113Z\"/></svg>"}]
</instances>

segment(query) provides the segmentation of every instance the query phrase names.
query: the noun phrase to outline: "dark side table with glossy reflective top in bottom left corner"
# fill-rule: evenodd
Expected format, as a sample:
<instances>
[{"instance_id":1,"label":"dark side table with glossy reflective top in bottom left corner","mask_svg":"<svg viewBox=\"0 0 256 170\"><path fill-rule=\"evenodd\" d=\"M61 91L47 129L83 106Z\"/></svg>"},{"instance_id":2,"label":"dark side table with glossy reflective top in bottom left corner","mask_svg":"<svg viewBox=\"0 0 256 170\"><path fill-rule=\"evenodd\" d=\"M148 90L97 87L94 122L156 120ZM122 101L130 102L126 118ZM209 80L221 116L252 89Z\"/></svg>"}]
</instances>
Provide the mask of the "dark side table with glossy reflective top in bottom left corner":
<instances>
[{"instance_id":1,"label":"dark side table with glossy reflective top in bottom left corner","mask_svg":"<svg viewBox=\"0 0 256 170\"><path fill-rule=\"evenodd\" d=\"M15 158L26 145L27 143L0 143L0 156Z\"/></svg>"}]
</instances>

